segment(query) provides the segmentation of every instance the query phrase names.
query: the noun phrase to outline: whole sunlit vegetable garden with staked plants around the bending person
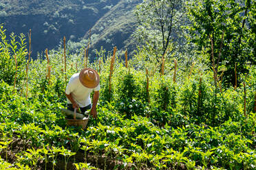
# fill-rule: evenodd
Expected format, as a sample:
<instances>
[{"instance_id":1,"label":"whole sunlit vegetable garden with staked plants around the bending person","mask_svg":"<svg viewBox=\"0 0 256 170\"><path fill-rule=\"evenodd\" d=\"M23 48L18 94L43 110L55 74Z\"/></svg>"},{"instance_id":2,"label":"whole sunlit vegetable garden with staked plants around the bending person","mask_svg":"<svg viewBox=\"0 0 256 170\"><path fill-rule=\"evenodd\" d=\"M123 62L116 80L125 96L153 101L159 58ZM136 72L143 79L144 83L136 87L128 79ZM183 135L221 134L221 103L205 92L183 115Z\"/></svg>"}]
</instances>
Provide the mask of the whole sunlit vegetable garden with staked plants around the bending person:
<instances>
[{"instance_id":1,"label":"whole sunlit vegetable garden with staked plants around the bending person","mask_svg":"<svg viewBox=\"0 0 256 170\"><path fill-rule=\"evenodd\" d=\"M142 50L128 63L115 48L89 63L65 42L25 60L24 36L11 37L1 27L1 169L255 169L255 66L237 87L221 75L216 86L199 61L149 62ZM85 66L101 90L98 119L81 130L66 126L61 108L68 79Z\"/></svg>"}]
</instances>

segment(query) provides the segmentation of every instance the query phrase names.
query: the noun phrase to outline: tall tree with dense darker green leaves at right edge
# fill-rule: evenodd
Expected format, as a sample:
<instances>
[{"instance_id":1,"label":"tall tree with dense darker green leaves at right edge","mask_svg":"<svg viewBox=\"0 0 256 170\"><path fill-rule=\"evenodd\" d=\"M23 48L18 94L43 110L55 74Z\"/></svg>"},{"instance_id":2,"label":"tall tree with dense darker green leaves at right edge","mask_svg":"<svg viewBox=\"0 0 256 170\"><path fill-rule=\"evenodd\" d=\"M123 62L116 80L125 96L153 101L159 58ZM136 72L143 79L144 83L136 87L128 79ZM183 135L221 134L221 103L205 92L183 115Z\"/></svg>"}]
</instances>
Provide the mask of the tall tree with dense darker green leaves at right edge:
<instances>
[{"instance_id":1,"label":"tall tree with dense darker green leaves at right edge","mask_svg":"<svg viewBox=\"0 0 256 170\"><path fill-rule=\"evenodd\" d=\"M206 49L216 73L226 66L226 84L235 86L238 75L248 73L246 63L255 63L255 1L189 1L191 42ZM213 52L213 53L212 53Z\"/></svg>"}]
</instances>

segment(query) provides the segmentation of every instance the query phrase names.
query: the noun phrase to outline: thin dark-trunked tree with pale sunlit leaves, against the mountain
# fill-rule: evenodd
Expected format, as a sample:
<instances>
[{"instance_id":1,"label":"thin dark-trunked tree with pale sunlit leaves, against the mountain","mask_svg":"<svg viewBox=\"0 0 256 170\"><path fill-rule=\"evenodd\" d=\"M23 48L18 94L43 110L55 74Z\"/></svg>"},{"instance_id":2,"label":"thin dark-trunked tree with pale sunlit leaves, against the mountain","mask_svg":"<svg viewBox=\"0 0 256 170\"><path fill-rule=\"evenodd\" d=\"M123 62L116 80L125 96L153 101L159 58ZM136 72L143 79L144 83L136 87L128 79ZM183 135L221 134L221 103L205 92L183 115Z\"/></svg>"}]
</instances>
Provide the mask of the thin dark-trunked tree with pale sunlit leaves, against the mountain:
<instances>
[{"instance_id":1,"label":"thin dark-trunked tree with pale sunlit leaves, against the mountain","mask_svg":"<svg viewBox=\"0 0 256 170\"><path fill-rule=\"evenodd\" d=\"M136 36L143 44L156 49L157 56L164 55L173 38L178 38L182 6L182 0L144 0L137 6Z\"/></svg>"}]
</instances>

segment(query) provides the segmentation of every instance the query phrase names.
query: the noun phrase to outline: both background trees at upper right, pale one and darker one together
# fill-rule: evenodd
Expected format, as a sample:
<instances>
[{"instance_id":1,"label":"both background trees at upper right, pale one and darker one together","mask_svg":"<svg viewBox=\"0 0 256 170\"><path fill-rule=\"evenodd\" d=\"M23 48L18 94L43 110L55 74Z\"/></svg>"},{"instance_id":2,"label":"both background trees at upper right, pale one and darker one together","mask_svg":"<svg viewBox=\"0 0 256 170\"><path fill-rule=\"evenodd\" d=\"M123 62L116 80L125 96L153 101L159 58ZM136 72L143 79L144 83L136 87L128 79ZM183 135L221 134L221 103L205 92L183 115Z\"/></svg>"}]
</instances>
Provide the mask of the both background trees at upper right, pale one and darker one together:
<instances>
[{"instance_id":1,"label":"both background trees at upper right, pale one and darker one together","mask_svg":"<svg viewBox=\"0 0 256 170\"><path fill-rule=\"evenodd\" d=\"M145 0L135 36L158 60L165 52L187 62L203 54L216 80L223 74L225 86L239 86L246 65L256 64L255 9L250 0Z\"/></svg>"}]
</instances>

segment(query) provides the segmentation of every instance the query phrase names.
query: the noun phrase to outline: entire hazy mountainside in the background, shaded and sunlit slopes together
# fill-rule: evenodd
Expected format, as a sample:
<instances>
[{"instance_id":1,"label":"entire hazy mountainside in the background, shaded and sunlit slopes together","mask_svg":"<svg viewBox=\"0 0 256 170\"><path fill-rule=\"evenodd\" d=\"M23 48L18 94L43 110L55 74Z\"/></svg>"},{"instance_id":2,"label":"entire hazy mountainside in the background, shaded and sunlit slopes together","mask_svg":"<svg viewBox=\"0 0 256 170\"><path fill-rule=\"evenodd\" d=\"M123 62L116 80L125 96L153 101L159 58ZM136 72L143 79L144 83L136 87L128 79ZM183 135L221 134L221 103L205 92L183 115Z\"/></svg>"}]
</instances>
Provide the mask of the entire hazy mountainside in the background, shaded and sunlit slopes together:
<instances>
[{"instance_id":1,"label":"entire hazy mountainside in the background, shaded and sunlit slopes together","mask_svg":"<svg viewBox=\"0 0 256 170\"><path fill-rule=\"evenodd\" d=\"M86 45L90 28L94 48L111 49L117 45L118 49L125 49L124 41L133 32L132 9L138 3L138 0L1 0L0 23L7 34L27 34L32 29L34 58L37 52L60 45L63 36L70 42Z\"/></svg>"}]
</instances>

